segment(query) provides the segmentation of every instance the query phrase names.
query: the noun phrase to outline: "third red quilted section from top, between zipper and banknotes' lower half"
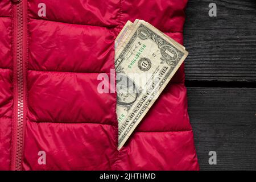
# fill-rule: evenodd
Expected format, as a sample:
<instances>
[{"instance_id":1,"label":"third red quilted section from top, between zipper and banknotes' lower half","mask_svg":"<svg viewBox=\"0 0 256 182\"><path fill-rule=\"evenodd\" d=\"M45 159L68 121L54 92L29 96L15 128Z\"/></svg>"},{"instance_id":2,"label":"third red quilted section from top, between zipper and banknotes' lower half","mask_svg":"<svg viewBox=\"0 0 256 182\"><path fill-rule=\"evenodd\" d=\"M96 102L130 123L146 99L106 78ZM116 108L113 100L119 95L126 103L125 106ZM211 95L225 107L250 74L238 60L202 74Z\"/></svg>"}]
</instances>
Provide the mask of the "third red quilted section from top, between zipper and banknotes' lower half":
<instances>
[{"instance_id":1,"label":"third red quilted section from top, between zipper and banknotes' lower half","mask_svg":"<svg viewBox=\"0 0 256 182\"><path fill-rule=\"evenodd\" d=\"M99 93L97 76L28 71L28 118L35 122L115 125L116 94Z\"/></svg>"}]
</instances>

